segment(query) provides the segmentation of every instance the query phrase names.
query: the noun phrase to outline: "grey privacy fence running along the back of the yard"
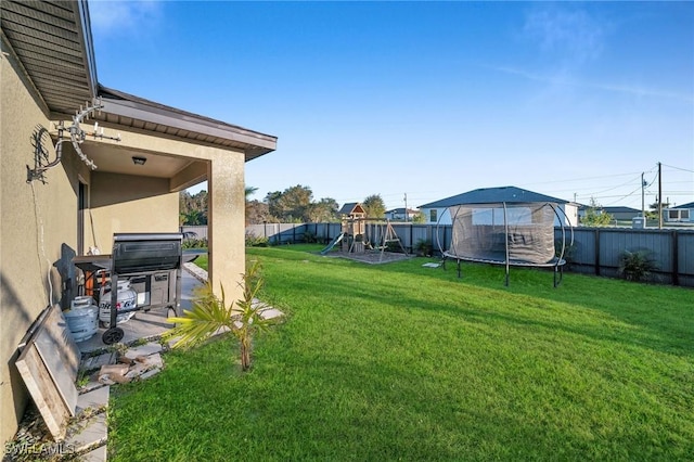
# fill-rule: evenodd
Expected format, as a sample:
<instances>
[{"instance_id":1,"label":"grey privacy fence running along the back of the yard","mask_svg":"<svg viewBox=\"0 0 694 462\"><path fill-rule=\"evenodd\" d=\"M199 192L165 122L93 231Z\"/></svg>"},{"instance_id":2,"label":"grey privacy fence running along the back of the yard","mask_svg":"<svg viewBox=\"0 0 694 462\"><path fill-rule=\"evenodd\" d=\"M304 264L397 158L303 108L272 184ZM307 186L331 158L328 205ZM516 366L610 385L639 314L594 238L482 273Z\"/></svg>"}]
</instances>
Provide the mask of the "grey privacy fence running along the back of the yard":
<instances>
[{"instance_id":1,"label":"grey privacy fence running along the back of the yard","mask_svg":"<svg viewBox=\"0 0 694 462\"><path fill-rule=\"evenodd\" d=\"M391 224L408 252L413 252L422 240L438 255L439 249L448 248L451 242L450 224ZM267 238L272 245L313 239L327 243L340 232L340 223L266 223L246 228L246 234ZM384 233L385 222L367 224L365 234L372 243L380 243ZM560 240L561 235L561 229L556 228L555 239ZM574 244L567 249L567 270L618 277L619 256L624 251L651 252L657 266L657 282L694 287L694 229L574 228Z\"/></svg>"}]
</instances>

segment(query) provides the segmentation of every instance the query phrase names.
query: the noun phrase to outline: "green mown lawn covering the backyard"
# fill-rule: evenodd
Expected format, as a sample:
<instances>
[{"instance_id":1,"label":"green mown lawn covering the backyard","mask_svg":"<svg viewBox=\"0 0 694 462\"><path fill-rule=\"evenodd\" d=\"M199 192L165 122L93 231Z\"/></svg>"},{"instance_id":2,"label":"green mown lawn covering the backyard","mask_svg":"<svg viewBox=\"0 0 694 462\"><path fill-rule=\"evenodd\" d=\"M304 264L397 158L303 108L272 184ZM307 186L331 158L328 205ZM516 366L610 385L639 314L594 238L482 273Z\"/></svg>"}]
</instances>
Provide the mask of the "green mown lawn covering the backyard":
<instances>
[{"instance_id":1,"label":"green mown lawn covering the backyard","mask_svg":"<svg viewBox=\"0 0 694 462\"><path fill-rule=\"evenodd\" d=\"M319 248L247 251L286 321L115 387L110 460L694 458L694 291Z\"/></svg>"}]
</instances>

